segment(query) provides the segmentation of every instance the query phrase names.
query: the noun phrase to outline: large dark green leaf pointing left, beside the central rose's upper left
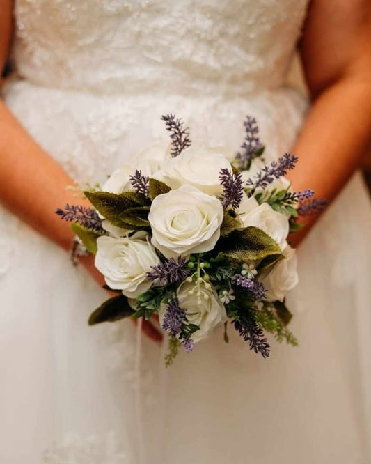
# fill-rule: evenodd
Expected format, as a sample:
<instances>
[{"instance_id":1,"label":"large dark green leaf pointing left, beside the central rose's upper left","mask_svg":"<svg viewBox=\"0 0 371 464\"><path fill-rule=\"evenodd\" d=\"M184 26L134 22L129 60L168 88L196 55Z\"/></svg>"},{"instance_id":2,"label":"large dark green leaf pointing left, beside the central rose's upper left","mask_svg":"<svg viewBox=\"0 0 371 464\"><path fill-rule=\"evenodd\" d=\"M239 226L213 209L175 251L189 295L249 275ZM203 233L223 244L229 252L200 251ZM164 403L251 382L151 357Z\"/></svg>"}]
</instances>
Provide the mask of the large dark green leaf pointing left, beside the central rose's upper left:
<instances>
[{"instance_id":1,"label":"large dark green leaf pointing left, beside the central rose's upper left","mask_svg":"<svg viewBox=\"0 0 371 464\"><path fill-rule=\"evenodd\" d=\"M84 192L93 206L114 226L123 229L145 229L150 200L136 192Z\"/></svg>"}]
</instances>

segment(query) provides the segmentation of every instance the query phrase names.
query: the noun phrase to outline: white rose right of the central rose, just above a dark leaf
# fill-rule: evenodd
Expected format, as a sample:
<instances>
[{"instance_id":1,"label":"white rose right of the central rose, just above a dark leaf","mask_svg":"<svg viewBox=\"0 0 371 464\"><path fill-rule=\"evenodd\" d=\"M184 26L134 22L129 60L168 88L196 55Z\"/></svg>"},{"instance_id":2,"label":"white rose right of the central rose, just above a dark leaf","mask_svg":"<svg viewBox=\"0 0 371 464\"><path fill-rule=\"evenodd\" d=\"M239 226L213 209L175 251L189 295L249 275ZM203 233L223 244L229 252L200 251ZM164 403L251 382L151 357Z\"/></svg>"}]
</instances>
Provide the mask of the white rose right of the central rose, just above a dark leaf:
<instances>
[{"instance_id":1,"label":"white rose right of the central rose, just above a dark leaf","mask_svg":"<svg viewBox=\"0 0 371 464\"><path fill-rule=\"evenodd\" d=\"M239 216L245 227L255 226L265 231L276 240L281 250L287 246L286 238L289 233L289 222L285 215L275 211L268 203L262 203L247 214Z\"/></svg>"}]
</instances>

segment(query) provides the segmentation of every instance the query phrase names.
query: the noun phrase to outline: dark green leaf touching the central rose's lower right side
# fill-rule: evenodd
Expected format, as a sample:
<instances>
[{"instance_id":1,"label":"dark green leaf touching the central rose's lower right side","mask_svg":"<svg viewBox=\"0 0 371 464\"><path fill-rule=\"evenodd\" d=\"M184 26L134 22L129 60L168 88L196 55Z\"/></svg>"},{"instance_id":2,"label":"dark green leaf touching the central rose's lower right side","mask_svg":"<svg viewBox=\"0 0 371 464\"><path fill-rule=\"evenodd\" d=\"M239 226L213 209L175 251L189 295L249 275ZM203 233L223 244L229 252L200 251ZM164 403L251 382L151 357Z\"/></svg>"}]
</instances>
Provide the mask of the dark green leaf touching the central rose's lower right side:
<instances>
[{"instance_id":1,"label":"dark green leaf touching the central rose's lower right side","mask_svg":"<svg viewBox=\"0 0 371 464\"><path fill-rule=\"evenodd\" d=\"M281 254L275 240L253 226L232 231L227 238L221 238L217 246L228 258L236 261L255 261L271 254Z\"/></svg>"}]
</instances>

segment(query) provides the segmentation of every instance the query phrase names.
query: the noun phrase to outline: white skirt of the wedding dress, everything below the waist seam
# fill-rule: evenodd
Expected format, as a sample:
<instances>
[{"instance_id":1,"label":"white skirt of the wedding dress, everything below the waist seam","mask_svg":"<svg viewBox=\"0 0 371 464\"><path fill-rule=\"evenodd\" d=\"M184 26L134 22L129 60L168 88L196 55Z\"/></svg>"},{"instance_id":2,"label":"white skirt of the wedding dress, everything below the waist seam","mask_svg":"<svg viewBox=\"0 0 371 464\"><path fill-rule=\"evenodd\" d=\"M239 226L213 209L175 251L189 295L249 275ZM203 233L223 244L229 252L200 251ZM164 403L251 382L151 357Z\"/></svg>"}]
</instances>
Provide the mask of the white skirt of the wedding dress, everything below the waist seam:
<instances>
[{"instance_id":1,"label":"white skirt of the wedding dress, everything below the waist seam","mask_svg":"<svg viewBox=\"0 0 371 464\"><path fill-rule=\"evenodd\" d=\"M236 100L113 98L15 81L3 95L80 182L166 139L164 113L184 118L194 143L235 150L253 114L270 160L291 148L306 109L284 88ZM1 210L1 462L368 463L370 228L356 173L299 249L287 299L299 347L272 340L262 359L232 327L226 345L220 328L165 370L166 347L131 321L88 327L104 291Z\"/></svg>"}]
</instances>

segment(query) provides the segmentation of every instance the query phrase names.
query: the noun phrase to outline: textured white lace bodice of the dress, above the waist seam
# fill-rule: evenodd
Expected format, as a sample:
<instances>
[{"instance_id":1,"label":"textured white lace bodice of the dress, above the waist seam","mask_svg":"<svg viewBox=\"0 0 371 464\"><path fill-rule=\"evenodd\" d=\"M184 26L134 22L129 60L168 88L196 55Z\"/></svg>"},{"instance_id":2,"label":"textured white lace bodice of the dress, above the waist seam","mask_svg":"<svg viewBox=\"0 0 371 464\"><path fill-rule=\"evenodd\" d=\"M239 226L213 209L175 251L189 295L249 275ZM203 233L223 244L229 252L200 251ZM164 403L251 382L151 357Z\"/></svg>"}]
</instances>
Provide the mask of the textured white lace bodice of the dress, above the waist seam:
<instances>
[{"instance_id":1,"label":"textured white lace bodice of the dress, above the waist seam","mask_svg":"<svg viewBox=\"0 0 371 464\"><path fill-rule=\"evenodd\" d=\"M242 95L283 84L307 0L17 0L14 59L34 84Z\"/></svg>"}]
</instances>

